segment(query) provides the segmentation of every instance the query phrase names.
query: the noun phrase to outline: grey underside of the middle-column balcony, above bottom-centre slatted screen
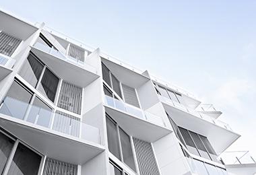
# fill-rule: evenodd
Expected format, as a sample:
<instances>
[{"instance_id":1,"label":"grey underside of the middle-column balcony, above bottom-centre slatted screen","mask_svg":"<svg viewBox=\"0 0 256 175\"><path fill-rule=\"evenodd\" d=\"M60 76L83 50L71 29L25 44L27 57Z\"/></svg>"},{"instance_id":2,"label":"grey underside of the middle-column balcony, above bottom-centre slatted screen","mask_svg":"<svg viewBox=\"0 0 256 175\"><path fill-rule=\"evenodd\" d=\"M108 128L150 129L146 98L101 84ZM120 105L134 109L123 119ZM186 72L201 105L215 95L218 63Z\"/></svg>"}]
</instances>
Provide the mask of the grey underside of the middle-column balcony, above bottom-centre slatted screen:
<instances>
[{"instance_id":1,"label":"grey underside of the middle-column balcony, above bottom-centre slatted screen","mask_svg":"<svg viewBox=\"0 0 256 175\"><path fill-rule=\"evenodd\" d=\"M105 110L127 134L143 141L154 142L172 132L169 129L131 116L110 106L105 106Z\"/></svg>"}]
</instances>

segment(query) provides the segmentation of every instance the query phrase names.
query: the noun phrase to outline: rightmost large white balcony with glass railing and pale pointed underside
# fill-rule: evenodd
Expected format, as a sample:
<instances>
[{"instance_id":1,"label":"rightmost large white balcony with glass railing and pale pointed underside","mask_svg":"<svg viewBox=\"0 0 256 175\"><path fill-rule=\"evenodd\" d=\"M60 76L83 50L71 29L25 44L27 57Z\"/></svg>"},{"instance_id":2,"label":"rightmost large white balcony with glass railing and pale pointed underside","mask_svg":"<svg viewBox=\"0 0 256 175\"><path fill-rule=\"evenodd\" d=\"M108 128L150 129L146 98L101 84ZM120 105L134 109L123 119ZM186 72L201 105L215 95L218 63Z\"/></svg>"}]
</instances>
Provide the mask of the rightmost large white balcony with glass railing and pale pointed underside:
<instances>
[{"instance_id":1,"label":"rightmost large white balcony with glass railing and pale pointed underside","mask_svg":"<svg viewBox=\"0 0 256 175\"><path fill-rule=\"evenodd\" d=\"M240 137L225 122L187 108L183 104L173 102L163 96L159 96L159 99L163 103L166 112L170 114L177 125L207 137L217 154L222 153Z\"/></svg>"}]
</instances>

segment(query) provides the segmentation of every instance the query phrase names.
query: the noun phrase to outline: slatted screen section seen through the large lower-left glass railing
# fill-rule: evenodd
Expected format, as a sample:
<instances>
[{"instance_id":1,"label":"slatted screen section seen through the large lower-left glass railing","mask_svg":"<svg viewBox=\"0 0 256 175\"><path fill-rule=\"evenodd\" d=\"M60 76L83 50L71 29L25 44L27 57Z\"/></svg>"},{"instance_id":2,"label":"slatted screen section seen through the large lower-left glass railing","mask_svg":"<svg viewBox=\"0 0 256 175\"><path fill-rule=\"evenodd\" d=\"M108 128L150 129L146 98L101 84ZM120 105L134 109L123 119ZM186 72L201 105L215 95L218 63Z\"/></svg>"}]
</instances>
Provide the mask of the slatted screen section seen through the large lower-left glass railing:
<instances>
[{"instance_id":1,"label":"slatted screen section seen through the large lower-left glass railing","mask_svg":"<svg viewBox=\"0 0 256 175\"><path fill-rule=\"evenodd\" d=\"M79 137L80 119L64 112L57 111L53 121L53 129L61 133Z\"/></svg>"}]
</instances>

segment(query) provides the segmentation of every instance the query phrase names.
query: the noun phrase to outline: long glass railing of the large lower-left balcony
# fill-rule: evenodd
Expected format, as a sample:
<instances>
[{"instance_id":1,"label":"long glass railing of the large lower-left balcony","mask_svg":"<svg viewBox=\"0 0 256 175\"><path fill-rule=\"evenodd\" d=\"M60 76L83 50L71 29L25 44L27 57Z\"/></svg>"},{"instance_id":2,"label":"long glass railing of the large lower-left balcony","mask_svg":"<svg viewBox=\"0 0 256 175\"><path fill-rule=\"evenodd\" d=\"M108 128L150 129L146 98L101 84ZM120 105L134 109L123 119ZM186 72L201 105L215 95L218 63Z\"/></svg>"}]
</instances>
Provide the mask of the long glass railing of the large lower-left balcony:
<instances>
[{"instance_id":1,"label":"long glass railing of the large lower-left balcony","mask_svg":"<svg viewBox=\"0 0 256 175\"><path fill-rule=\"evenodd\" d=\"M65 135L100 143L99 129L81 122L79 118L64 116L14 98L5 98L0 113Z\"/></svg>"}]
</instances>

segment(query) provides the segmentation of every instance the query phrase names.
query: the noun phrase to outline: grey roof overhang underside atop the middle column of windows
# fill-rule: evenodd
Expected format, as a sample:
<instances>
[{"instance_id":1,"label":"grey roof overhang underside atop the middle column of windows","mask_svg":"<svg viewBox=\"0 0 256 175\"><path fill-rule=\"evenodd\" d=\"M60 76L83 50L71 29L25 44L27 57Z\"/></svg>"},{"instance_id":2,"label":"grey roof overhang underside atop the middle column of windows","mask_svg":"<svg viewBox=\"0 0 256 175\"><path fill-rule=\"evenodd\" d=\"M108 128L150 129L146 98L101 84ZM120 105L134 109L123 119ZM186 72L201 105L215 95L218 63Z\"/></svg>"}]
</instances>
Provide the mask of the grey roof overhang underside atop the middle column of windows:
<instances>
[{"instance_id":1,"label":"grey roof overhang underside atop the middle column of windows","mask_svg":"<svg viewBox=\"0 0 256 175\"><path fill-rule=\"evenodd\" d=\"M102 62L104 65L106 65L106 67L108 67L111 73L113 73L115 77L121 81L121 83L129 85L132 88L139 88L141 85L150 80L149 77L135 73L134 71L131 71L130 69L127 69L117 63L113 63L108 59L102 59Z\"/></svg>"}]
</instances>

